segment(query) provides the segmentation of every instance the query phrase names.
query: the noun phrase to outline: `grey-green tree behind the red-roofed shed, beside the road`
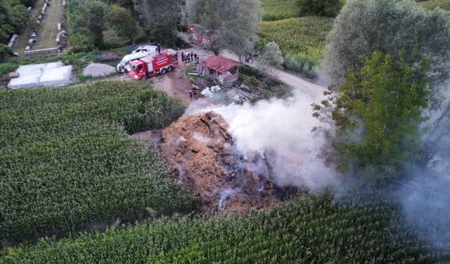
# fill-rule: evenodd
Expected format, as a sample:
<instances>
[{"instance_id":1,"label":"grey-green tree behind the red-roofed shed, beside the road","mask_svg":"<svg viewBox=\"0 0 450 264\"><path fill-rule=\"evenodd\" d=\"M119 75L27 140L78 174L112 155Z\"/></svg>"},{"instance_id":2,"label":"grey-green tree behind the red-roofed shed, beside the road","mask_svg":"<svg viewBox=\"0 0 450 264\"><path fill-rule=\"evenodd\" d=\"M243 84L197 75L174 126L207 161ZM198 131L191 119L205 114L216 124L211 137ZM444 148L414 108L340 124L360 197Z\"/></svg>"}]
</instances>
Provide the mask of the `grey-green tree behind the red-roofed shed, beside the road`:
<instances>
[{"instance_id":1,"label":"grey-green tree behind the red-roofed shed, beside the road","mask_svg":"<svg viewBox=\"0 0 450 264\"><path fill-rule=\"evenodd\" d=\"M183 15L214 32L214 52L229 49L242 61L255 47L260 11L259 0L186 0Z\"/></svg>"}]
</instances>

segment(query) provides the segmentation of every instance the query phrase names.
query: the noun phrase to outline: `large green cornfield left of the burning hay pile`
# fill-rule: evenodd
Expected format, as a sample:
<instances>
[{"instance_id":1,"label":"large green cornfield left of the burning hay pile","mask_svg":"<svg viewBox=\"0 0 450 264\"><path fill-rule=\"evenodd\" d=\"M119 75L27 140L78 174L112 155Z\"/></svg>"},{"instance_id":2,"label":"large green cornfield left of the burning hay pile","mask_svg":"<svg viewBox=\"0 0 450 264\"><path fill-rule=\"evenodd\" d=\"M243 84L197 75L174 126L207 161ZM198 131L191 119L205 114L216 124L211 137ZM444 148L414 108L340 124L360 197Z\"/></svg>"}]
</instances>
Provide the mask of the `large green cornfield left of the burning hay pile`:
<instances>
[{"instance_id":1,"label":"large green cornfield left of the burning hay pile","mask_svg":"<svg viewBox=\"0 0 450 264\"><path fill-rule=\"evenodd\" d=\"M184 105L148 83L0 91L0 247L103 221L191 210L154 149L132 139Z\"/></svg>"}]
</instances>

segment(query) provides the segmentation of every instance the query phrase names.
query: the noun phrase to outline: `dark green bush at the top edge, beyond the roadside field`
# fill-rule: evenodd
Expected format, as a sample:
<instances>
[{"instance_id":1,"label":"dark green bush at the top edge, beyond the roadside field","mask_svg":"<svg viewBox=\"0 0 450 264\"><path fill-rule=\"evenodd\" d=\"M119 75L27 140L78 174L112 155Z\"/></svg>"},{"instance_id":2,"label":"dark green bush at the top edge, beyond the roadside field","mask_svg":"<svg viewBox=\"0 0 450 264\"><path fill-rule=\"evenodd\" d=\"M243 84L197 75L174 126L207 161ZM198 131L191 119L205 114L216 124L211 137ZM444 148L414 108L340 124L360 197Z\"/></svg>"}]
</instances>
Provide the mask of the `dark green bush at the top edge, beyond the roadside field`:
<instances>
[{"instance_id":1,"label":"dark green bush at the top edge, beyond the roadside field","mask_svg":"<svg viewBox=\"0 0 450 264\"><path fill-rule=\"evenodd\" d=\"M298 0L300 15L336 16L342 8L341 0Z\"/></svg>"}]
</instances>

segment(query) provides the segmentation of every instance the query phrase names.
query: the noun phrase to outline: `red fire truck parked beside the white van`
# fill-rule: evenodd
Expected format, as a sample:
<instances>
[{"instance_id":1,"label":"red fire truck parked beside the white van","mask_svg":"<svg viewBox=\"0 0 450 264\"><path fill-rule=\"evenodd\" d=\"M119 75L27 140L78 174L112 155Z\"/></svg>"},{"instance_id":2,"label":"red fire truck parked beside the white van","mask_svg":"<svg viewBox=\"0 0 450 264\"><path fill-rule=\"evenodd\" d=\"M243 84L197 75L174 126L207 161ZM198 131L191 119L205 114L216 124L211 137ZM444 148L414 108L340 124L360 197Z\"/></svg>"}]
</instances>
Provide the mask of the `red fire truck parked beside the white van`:
<instances>
[{"instance_id":1,"label":"red fire truck parked beside the white van","mask_svg":"<svg viewBox=\"0 0 450 264\"><path fill-rule=\"evenodd\" d=\"M173 49L130 61L129 64L129 74L136 80L146 80L158 73L165 74L179 66L178 54Z\"/></svg>"}]
</instances>

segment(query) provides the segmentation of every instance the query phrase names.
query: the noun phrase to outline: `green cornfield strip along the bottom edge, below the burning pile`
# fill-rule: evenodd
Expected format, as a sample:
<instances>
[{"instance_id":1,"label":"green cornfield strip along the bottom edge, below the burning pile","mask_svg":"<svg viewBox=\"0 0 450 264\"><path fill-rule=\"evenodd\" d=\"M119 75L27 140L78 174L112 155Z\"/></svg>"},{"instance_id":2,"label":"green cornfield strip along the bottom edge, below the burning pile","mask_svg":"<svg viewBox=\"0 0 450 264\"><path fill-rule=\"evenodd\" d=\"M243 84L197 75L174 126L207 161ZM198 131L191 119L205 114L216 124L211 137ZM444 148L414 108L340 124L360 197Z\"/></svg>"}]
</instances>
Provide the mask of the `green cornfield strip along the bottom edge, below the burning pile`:
<instances>
[{"instance_id":1,"label":"green cornfield strip along the bottom edge, below the burning pile","mask_svg":"<svg viewBox=\"0 0 450 264\"><path fill-rule=\"evenodd\" d=\"M4 263L448 263L378 199L330 195L227 218L158 220L6 249Z\"/></svg>"}]
</instances>

